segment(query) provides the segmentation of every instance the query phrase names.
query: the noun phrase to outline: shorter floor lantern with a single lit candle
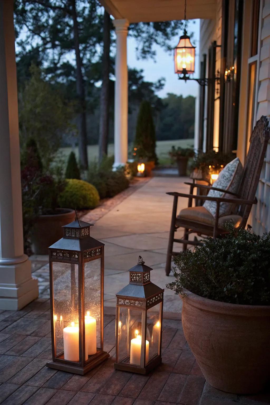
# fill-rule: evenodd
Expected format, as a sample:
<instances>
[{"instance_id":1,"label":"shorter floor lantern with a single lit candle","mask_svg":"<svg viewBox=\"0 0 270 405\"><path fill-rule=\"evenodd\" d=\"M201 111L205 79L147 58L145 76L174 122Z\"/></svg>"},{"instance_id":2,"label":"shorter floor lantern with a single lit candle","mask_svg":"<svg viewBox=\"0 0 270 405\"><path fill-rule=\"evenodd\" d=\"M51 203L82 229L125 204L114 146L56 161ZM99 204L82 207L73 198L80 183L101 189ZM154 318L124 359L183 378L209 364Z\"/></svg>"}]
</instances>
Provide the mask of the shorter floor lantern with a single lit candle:
<instances>
[{"instance_id":1,"label":"shorter floor lantern with a single lit candle","mask_svg":"<svg viewBox=\"0 0 270 405\"><path fill-rule=\"evenodd\" d=\"M116 294L115 369L147 374L161 363L164 289L151 283L151 270L139 256L130 283Z\"/></svg>"}]
</instances>

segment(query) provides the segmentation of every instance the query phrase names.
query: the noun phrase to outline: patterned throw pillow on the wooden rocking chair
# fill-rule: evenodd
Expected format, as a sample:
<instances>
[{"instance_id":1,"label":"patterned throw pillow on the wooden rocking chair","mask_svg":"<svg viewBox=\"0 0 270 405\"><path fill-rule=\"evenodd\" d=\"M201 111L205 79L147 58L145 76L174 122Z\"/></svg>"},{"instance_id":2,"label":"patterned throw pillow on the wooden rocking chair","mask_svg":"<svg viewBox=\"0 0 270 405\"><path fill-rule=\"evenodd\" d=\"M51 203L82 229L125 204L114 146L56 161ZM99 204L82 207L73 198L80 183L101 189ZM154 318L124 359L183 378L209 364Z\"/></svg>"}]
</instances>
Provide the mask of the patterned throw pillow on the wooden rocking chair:
<instances>
[{"instance_id":1,"label":"patterned throw pillow on the wooden rocking chair","mask_svg":"<svg viewBox=\"0 0 270 405\"><path fill-rule=\"evenodd\" d=\"M224 169L219 173L217 181L213 184L216 188L221 188L222 190L228 190L232 193L237 193L242 180L243 166L238 158L232 160L228 163ZM232 194L226 194L223 191L210 190L208 193L209 197L224 197L224 198L235 198ZM232 203L220 203L219 205L219 216L229 215L232 212ZM215 217L217 203L215 201L205 201L204 208L206 208L210 214Z\"/></svg>"}]
</instances>

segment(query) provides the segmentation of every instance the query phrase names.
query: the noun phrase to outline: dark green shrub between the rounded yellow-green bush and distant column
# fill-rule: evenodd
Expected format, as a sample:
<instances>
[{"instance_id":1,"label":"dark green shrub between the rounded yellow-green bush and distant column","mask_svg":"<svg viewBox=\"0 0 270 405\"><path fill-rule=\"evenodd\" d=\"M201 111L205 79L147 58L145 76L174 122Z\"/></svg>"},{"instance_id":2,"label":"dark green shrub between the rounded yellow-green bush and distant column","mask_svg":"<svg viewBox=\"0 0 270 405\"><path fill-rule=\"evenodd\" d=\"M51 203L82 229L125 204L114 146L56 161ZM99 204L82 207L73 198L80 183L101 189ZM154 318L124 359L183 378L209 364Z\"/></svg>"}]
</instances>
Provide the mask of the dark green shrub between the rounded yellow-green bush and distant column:
<instances>
[{"instance_id":1,"label":"dark green shrub between the rounded yellow-green bush and distant column","mask_svg":"<svg viewBox=\"0 0 270 405\"><path fill-rule=\"evenodd\" d=\"M128 188L129 181L123 170L112 171L114 157L104 156L100 166L97 162L89 165L87 181L93 184L100 198L114 197Z\"/></svg>"}]
</instances>

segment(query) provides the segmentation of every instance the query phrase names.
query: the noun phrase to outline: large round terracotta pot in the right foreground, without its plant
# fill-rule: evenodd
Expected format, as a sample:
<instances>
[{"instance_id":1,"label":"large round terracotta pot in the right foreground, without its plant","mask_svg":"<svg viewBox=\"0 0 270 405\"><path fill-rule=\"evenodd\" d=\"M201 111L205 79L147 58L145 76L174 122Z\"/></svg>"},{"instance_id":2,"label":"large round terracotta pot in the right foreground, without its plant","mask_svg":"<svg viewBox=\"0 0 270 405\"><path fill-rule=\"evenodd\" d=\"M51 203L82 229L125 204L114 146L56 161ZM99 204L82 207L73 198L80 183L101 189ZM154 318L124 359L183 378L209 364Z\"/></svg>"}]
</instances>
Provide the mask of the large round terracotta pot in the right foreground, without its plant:
<instances>
[{"instance_id":1,"label":"large round terracotta pot in the right foreground, without its plant","mask_svg":"<svg viewBox=\"0 0 270 405\"><path fill-rule=\"evenodd\" d=\"M264 388L270 377L270 306L221 303L187 291L182 324L211 386L236 394Z\"/></svg>"}]
</instances>

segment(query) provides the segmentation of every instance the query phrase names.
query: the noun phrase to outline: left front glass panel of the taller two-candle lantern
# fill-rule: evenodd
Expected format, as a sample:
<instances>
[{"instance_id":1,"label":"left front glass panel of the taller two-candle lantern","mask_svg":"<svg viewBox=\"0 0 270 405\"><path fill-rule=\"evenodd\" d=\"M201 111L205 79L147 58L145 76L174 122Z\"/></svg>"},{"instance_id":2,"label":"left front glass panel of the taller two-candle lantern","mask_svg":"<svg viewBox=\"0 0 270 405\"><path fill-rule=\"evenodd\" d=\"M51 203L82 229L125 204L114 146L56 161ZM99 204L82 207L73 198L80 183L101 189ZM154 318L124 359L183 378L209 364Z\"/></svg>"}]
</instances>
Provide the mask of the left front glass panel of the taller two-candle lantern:
<instances>
[{"instance_id":1,"label":"left front glass panel of the taller two-candle lantern","mask_svg":"<svg viewBox=\"0 0 270 405\"><path fill-rule=\"evenodd\" d=\"M59 356L64 352L64 358L66 360L79 362L78 264L53 262L52 269L53 320L56 356ZM64 331L64 328L70 328L70 330L66 329ZM71 330L71 328L74 330ZM67 333L66 336L69 340L69 343L65 345L65 351L63 339L64 333ZM66 340L66 342L68 342L68 340ZM73 347L71 352L69 350L69 345Z\"/></svg>"}]
</instances>

